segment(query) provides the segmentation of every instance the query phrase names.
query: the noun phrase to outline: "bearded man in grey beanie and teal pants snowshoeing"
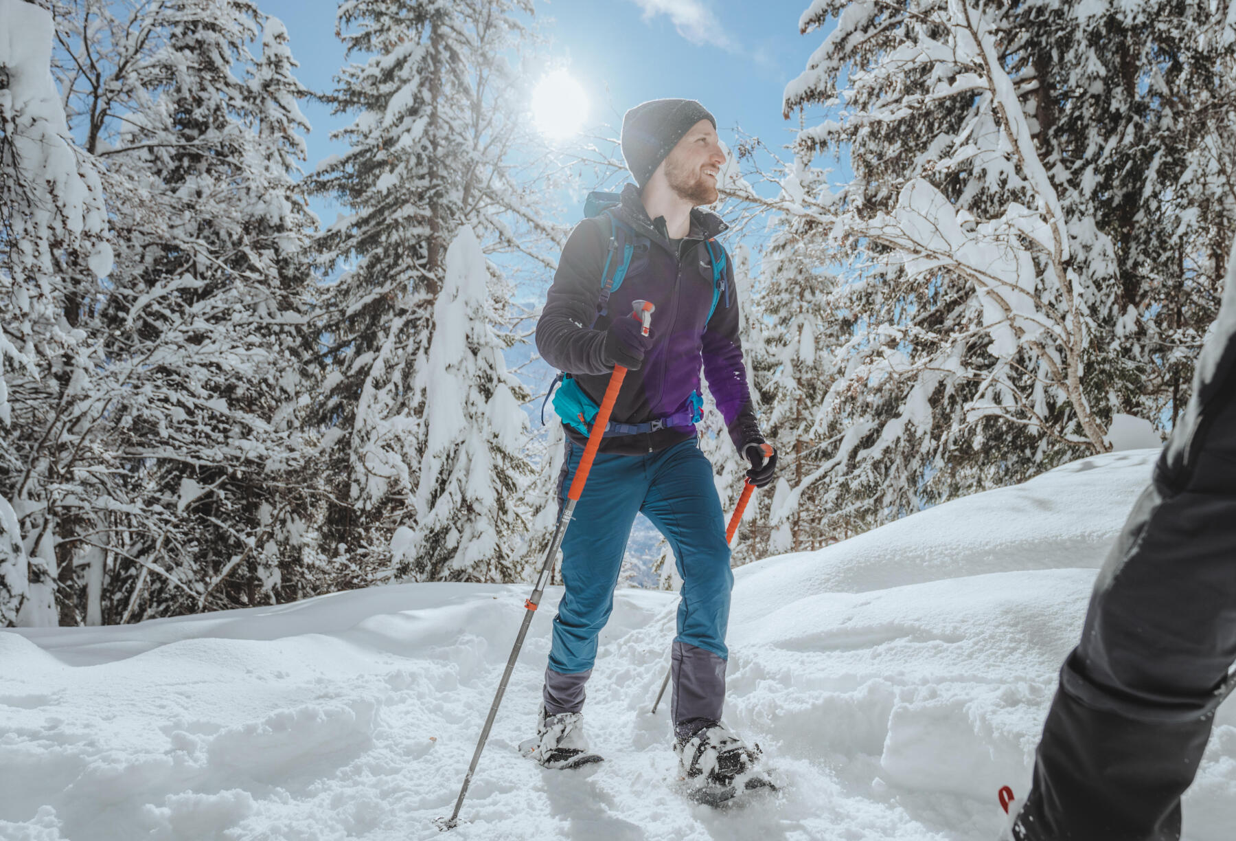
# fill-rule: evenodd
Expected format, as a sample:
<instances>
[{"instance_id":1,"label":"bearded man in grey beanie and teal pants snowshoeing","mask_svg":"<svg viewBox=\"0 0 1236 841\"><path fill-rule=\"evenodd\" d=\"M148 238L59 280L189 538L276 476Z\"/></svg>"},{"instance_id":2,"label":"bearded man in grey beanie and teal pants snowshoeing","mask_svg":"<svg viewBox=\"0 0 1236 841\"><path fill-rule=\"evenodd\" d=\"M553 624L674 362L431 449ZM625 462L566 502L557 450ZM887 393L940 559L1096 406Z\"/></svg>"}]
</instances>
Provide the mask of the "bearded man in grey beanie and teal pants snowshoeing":
<instances>
[{"instance_id":1,"label":"bearded man in grey beanie and teal pants snowshoeing","mask_svg":"<svg viewBox=\"0 0 1236 841\"><path fill-rule=\"evenodd\" d=\"M635 184L572 231L536 325L541 356L569 375L554 399L567 438L560 501L611 370L622 365L628 374L562 540L565 594L533 756L549 768L599 759L583 735L585 684L643 512L669 540L684 580L671 701L680 773L727 787L758 754L721 724L734 579L712 465L695 427L701 367L734 446L751 463L753 484L771 481L776 456L764 455L751 408L733 270L716 242L726 223L700 209L717 200L726 162L716 120L693 100L644 103L623 119L622 151ZM646 336L630 318L635 301L655 307Z\"/></svg>"}]
</instances>

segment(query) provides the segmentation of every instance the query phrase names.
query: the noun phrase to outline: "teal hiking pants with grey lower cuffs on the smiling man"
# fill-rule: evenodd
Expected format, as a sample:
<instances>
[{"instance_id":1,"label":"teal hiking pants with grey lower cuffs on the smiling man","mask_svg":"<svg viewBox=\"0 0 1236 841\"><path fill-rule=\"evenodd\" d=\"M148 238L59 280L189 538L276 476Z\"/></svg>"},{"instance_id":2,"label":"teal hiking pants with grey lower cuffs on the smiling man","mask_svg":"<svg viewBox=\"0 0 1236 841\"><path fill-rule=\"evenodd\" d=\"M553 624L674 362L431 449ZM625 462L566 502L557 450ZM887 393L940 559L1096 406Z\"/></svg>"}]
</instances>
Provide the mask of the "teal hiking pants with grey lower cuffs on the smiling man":
<instances>
[{"instance_id":1,"label":"teal hiking pants with grey lower cuffs on the smiling man","mask_svg":"<svg viewBox=\"0 0 1236 841\"><path fill-rule=\"evenodd\" d=\"M566 502L582 455L582 446L566 442L560 505ZM675 724L719 720L734 575L712 465L693 438L646 455L597 454L562 538L566 592L554 618L545 709L555 715L578 712L583 706L583 684L597 658L597 634L613 610L627 539L639 512L669 540L682 576L671 716Z\"/></svg>"}]
</instances>

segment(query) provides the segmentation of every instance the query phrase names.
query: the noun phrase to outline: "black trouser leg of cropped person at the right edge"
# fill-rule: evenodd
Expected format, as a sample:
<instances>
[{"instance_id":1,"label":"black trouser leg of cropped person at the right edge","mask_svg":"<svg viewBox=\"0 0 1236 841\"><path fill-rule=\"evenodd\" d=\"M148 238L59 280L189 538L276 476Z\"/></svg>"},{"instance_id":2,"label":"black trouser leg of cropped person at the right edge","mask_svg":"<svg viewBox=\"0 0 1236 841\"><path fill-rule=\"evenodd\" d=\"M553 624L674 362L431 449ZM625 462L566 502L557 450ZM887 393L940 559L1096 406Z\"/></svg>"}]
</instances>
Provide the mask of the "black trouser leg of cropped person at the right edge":
<instances>
[{"instance_id":1,"label":"black trouser leg of cropped person at the right edge","mask_svg":"<svg viewBox=\"0 0 1236 841\"><path fill-rule=\"evenodd\" d=\"M1236 659L1236 249L1193 398L1095 584L1014 836L1175 841Z\"/></svg>"}]
</instances>

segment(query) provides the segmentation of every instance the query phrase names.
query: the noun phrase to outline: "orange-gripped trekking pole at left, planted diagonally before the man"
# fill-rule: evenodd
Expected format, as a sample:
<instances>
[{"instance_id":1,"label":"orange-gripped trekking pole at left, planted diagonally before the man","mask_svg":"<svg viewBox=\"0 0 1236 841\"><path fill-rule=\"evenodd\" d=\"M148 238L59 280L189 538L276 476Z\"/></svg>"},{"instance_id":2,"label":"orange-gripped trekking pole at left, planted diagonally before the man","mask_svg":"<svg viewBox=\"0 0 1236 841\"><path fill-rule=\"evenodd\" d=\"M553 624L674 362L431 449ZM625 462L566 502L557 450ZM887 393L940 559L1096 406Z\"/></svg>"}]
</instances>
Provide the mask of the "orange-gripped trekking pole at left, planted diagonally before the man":
<instances>
[{"instance_id":1,"label":"orange-gripped trekking pole at left, planted diagonally before the man","mask_svg":"<svg viewBox=\"0 0 1236 841\"><path fill-rule=\"evenodd\" d=\"M632 312L630 317L644 323L641 333L645 336L648 335L649 327L653 324L654 309L655 307L648 301L634 302L634 312ZM519 634L515 636L515 647L510 649L510 657L507 659L507 668L502 673L502 681L498 684L498 691L493 696L493 704L489 705L489 716L485 720L481 738L476 743L476 752L472 753L472 764L468 766L467 775L464 777L460 796L455 801L455 811L447 819L439 818L434 821L440 830L452 830L459 826L460 809L464 806L464 798L467 796L468 785L472 784L472 774L476 773L476 764L481 761L481 752L485 751L485 743L489 738L489 731L493 728L493 719L498 715L498 705L502 704L502 696L507 694L507 683L510 680L510 673L515 669L515 660L519 659L519 649L523 648L524 637L528 636L528 626L531 625L533 613L536 611L536 606L540 605L541 595L545 592L545 583L549 580L550 570L554 569L554 559L562 545L562 536L566 533L566 527L571 523L571 514L575 513L575 503L580 501L580 495L583 493L583 484L588 481L588 471L592 470L592 461L597 456L597 448L601 446L601 438L604 435L606 425L609 423L609 413L613 412L614 401L618 399L618 391L622 388L622 381L625 376L627 369L622 365L614 365L613 374L609 375L609 385L606 387L606 396L602 398L601 408L592 422L592 432L588 433L588 444L583 448L583 456L580 459L580 466L575 469L571 490L566 493L566 505L562 506L562 513L559 514L557 527L554 529L554 539L550 540L549 552L545 553L545 560L541 561L540 574L536 576L536 586L533 589L533 595L524 601L524 621L519 626Z\"/></svg>"}]
</instances>

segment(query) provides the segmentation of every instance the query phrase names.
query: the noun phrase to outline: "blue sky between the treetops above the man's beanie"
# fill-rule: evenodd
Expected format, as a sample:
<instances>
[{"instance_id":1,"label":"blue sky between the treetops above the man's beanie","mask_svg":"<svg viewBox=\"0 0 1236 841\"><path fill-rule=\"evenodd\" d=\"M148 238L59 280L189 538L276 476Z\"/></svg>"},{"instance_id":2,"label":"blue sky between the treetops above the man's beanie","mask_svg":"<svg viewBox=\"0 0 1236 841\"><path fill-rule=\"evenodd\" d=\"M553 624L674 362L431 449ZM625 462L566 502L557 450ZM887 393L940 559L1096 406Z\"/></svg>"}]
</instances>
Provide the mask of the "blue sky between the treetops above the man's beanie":
<instances>
[{"instance_id":1,"label":"blue sky between the treetops above the man's beanie","mask_svg":"<svg viewBox=\"0 0 1236 841\"><path fill-rule=\"evenodd\" d=\"M299 78L329 90L344 64L335 38L332 0L260 0L283 20ZM550 38L545 57L566 62L585 87L591 120L617 127L628 108L646 99L698 99L717 117L727 142L740 126L776 148L789 143L797 116L781 117L781 94L806 67L822 35L798 35L808 0L536 0L536 17ZM346 124L323 105L302 105L313 125L309 162L337 152L328 135ZM811 115L808 115L810 121ZM591 121L590 120L590 121ZM329 224L336 208L314 202ZM567 220L569 221L569 220Z\"/></svg>"}]
</instances>

